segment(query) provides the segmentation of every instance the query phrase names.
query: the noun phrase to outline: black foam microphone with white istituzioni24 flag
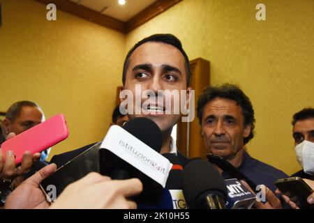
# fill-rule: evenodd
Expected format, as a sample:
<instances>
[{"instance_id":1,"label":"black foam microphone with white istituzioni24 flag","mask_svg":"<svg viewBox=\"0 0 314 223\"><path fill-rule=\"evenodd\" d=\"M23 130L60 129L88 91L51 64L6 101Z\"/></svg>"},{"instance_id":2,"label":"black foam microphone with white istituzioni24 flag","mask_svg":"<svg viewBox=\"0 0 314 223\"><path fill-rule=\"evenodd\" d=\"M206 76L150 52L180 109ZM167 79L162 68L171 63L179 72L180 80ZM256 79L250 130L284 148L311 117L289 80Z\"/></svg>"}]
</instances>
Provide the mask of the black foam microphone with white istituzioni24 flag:
<instances>
[{"instance_id":1,"label":"black foam microphone with white istituzioni24 flag","mask_svg":"<svg viewBox=\"0 0 314 223\"><path fill-rule=\"evenodd\" d=\"M132 118L123 128L112 125L100 146L100 173L112 179L139 178L143 192L137 207L173 208L165 187L172 164L161 149L161 131L148 118Z\"/></svg>"}]
</instances>

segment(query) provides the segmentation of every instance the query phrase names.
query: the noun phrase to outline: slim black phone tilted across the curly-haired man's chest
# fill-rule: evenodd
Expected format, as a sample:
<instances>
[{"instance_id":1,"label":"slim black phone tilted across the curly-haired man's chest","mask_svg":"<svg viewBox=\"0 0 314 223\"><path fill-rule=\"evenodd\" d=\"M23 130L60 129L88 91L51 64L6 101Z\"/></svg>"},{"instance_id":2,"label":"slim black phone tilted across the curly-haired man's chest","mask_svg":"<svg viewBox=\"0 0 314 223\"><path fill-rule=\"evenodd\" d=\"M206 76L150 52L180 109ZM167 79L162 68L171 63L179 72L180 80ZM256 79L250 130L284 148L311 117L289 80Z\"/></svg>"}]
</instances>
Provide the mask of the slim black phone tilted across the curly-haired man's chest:
<instances>
[{"instance_id":1,"label":"slim black phone tilted across the curly-haired man's chest","mask_svg":"<svg viewBox=\"0 0 314 223\"><path fill-rule=\"evenodd\" d=\"M237 169L237 167L234 167L234 165L225 160L223 157L220 157L219 155L212 155L210 153L208 153L206 156L209 162L211 162L212 164L216 164L217 167L225 171L232 178L246 181L246 183L248 183L252 190L256 191L257 185L253 183L250 178L242 174L241 171Z\"/></svg>"}]
</instances>

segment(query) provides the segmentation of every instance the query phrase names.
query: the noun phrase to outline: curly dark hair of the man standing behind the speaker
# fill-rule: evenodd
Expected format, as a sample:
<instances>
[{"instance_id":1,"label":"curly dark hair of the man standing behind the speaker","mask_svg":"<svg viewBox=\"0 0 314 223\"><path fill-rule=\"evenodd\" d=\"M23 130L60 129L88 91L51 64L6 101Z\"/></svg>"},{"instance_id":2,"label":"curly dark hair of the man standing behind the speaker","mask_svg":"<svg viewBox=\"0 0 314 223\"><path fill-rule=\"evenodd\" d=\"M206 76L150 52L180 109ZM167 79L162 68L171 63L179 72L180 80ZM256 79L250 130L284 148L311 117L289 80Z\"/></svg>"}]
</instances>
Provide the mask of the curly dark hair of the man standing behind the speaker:
<instances>
[{"instance_id":1,"label":"curly dark hair of the man standing behind the speaker","mask_svg":"<svg viewBox=\"0 0 314 223\"><path fill-rule=\"evenodd\" d=\"M204 106L208 102L216 98L225 98L234 100L237 105L240 105L242 114L244 116L244 126L251 125L251 132L248 137L244 138L244 145L250 141L254 136L255 118L254 110L251 100L244 94L244 92L235 84L222 84L220 86L209 86L204 89L202 95L197 100L197 117L202 125L202 115Z\"/></svg>"}]
</instances>

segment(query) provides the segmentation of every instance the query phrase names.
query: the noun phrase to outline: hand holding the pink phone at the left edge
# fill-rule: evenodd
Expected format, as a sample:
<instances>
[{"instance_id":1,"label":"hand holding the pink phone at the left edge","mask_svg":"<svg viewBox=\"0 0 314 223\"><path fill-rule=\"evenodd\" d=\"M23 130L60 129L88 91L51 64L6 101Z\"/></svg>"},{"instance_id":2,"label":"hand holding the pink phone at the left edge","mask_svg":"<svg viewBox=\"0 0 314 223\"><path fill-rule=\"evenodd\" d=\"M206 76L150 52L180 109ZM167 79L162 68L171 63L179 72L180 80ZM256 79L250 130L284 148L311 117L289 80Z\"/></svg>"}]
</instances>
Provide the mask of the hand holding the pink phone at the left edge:
<instances>
[{"instance_id":1,"label":"hand holding the pink phone at the left edge","mask_svg":"<svg viewBox=\"0 0 314 223\"><path fill-rule=\"evenodd\" d=\"M11 132L6 139L15 137ZM6 152L6 158L3 160L3 151L0 148L0 180L12 180L13 187L17 187L24 180L22 174L26 174L31 170L33 164L40 160L40 153L31 155L29 151L25 151L22 157L22 163L19 167L15 167L15 156L13 151ZM1 183L0 183L1 187Z\"/></svg>"}]
</instances>

